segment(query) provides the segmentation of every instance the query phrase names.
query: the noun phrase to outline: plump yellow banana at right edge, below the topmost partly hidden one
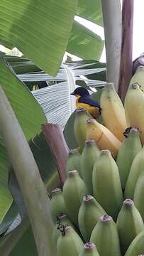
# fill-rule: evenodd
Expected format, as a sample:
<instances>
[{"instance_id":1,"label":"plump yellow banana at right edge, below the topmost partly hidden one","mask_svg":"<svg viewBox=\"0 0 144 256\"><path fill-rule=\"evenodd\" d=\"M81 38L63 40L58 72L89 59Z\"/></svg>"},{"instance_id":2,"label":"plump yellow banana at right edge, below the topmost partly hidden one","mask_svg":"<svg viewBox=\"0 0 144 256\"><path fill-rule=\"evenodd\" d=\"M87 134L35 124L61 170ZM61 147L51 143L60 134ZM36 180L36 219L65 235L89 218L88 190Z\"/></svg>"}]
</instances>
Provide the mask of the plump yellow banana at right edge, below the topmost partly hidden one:
<instances>
[{"instance_id":1,"label":"plump yellow banana at right edge, below the topmost partly hidden one","mask_svg":"<svg viewBox=\"0 0 144 256\"><path fill-rule=\"evenodd\" d=\"M130 85L125 98L125 111L128 124L140 130L140 141L144 144L144 93L135 83Z\"/></svg>"}]
</instances>

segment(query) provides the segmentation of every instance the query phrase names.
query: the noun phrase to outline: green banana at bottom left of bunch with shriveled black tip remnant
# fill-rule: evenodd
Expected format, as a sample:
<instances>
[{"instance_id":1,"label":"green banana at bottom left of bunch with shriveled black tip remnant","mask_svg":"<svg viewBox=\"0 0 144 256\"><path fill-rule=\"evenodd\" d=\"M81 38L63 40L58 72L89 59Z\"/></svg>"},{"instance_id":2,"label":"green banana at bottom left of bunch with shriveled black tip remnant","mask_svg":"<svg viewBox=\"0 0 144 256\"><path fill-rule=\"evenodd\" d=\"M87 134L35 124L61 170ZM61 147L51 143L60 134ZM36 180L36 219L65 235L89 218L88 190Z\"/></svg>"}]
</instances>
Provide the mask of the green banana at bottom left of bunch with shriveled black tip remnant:
<instances>
[{"instance_id":1,"label":"green banana at bottom left of bunch with shriveled black tip remnant","mask_svg":"<svg viewBox=\"0 0 144 256\"><path fill-rule=\"evenodd\" d=\"M79 256L83 246L84 244L79 235L72 227L67 226L57 240L57 256Z\"/></svg>"}]
</instances>

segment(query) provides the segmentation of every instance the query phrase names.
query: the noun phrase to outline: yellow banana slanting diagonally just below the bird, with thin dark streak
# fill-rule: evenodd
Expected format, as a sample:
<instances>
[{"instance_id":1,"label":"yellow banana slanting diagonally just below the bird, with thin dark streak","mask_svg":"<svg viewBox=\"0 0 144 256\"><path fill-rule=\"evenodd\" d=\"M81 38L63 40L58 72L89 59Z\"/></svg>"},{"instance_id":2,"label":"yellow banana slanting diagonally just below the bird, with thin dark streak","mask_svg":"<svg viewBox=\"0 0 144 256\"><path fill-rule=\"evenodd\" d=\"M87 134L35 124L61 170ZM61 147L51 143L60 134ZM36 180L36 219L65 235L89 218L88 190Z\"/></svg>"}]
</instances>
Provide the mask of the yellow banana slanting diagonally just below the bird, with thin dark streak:
<instances>
[{"instance_id":1,"label":"yellow banana slanting diagonally just below the bird, with thin dark streak","mask_svg":"<svg viewBox=\"0 0 144 256\"><path fill-rule=\"evenodd\" d=\"M104 125L95 119L87 120L87 139L94 139L99 149L109 149L113 158L116 158L121 142Z\"/></svg>"}]
</instances>

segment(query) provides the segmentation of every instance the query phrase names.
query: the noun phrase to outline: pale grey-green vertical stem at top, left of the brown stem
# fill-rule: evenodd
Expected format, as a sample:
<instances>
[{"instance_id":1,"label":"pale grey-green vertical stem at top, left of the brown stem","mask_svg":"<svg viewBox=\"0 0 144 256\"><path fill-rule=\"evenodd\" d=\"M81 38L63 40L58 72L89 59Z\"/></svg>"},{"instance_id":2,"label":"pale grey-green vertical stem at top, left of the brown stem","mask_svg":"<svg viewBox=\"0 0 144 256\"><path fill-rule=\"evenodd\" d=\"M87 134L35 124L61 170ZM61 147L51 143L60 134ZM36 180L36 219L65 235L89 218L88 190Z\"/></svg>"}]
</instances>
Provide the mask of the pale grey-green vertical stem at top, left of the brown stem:
<instances>
[{"instance_id":1,"label":"pale grey-green vertical stem at top, left of the brown stem","mask_svg":"<svg viewBox=\"0 0 144 256\"><path fill-rule=\"evenodd\" d=\"M121 5L119 0L101 0L106 46L107 81L118 90L121 62Z\"/></svg>"}]
</instances>

